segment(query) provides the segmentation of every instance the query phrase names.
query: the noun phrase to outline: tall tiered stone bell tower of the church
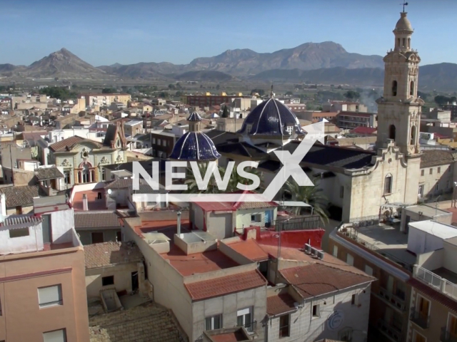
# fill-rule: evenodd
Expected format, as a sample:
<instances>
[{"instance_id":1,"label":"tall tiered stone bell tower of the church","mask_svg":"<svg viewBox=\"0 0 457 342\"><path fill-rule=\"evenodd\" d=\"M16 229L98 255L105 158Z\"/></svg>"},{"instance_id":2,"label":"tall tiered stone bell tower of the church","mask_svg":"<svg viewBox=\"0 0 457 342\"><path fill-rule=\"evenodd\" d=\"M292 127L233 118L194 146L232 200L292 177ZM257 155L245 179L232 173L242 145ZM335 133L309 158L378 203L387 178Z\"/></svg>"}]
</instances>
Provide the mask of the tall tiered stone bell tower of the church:
<instances>
[{"instance_id":1,"label":"tall tiered stone bell tower of the church","mask_svg":"<svg viewBox=\"0 0 457 342\"><path fill-rule=\"evenodd\" d=\"M395 140L406 156L419 152L421 105L418 97L418 65L421 58L411 48L413 28L405 11L393 30L394 48L384 57L384 90L378 103L378 138L380 148L387 139Z\"/></svg>"}]
</instances>

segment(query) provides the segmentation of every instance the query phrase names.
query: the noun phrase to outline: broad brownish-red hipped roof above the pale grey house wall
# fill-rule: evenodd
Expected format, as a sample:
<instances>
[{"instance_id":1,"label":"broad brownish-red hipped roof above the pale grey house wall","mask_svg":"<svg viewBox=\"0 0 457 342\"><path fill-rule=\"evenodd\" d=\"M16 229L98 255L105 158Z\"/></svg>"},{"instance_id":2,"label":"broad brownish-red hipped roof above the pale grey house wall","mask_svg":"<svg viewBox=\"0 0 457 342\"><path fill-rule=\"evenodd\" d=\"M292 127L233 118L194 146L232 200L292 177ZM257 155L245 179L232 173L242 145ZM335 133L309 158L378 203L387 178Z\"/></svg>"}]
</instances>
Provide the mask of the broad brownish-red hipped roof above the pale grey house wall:
<instances>
[{"instance_id":1,"label":"broad brownish-red hipped roof above the pale grey house wall","mask_svg":"<svg viewBox=\"0 0 457 342\"><path fill-rule=\"evenodd\" d=\"M283 269L280 273L304 299L376 280L372 276L318 263Z\"/></svg>"}]
</instances>

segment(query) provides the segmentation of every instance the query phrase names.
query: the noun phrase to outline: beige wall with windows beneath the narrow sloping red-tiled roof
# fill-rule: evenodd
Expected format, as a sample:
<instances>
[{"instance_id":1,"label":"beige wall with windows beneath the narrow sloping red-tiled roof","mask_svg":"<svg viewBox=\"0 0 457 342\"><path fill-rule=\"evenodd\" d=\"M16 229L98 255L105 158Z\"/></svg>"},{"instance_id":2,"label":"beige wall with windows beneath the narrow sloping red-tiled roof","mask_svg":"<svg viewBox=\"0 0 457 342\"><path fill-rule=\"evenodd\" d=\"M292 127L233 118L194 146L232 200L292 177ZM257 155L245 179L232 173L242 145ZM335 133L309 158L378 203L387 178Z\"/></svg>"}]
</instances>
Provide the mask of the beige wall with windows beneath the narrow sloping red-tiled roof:
<instances>
[{"instance_id":1,"label":"beige wall with windows beneath the narrow sloping red-tiled roof","mask_svg":"<svg viewBox=\"0 0 457 342\"><path fill-rule=\"evenodd\" d=\"M194 302L192 305L194 335L189 336L191 341L195 341L203 333L206 317L222 314L222 326L233 328L236 326L237 311L248 307L253 308L253 319L257 321L258 341L263 341L264 334L261 322L266 315L266 286Z\"/></svg>"}]
</instances>

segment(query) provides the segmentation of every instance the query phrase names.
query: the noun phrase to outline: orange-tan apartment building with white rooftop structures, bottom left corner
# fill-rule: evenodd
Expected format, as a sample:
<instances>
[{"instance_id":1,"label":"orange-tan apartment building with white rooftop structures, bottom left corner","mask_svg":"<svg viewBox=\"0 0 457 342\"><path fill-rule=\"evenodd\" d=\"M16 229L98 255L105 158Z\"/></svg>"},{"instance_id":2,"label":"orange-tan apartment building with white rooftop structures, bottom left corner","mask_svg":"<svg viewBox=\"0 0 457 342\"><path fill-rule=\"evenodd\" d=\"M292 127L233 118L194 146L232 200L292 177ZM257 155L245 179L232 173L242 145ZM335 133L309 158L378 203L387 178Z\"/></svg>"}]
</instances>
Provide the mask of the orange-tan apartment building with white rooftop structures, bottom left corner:
<instances>
[{"instance_id":1,"label":"orange-tan apartment building with white rooftop structures, bottom left corner","mask_svg":"<svg viewBox=\"0 0 457 342\"><path fill-rule=\"evenodd\" d=\"M65 202L1 217L0 340L89 342L84 250Z\"/></svg>"}]
</instances>

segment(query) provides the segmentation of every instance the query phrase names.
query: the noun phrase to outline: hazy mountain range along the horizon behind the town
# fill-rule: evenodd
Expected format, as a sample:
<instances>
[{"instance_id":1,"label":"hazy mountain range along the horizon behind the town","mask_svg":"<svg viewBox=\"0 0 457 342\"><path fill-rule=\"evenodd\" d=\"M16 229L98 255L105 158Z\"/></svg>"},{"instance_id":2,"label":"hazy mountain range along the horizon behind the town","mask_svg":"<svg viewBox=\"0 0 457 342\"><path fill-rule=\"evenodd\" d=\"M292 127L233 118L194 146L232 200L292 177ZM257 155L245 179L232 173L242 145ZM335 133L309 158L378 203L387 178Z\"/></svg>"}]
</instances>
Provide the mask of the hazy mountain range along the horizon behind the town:
<instances>
[{"instance_id":1,"label":"hazy mountain range along the horizon behind the town","mask_svg":"<svg viewBox=\"0 0 457 342\"><path fill-rule=\"evenodd\" d=\"M383 58L349 53L338 43L304 43L273 53L249 49L227 50L218 56L195 58L189 64L136 63L94 67L66 48L30 66L0 64L0 81L33 79L71 81L179 80L226 82L232 78L251 81L346 83L380 86ZM420 87L456 90L457 64L441 63L420 68Z\"/></svg>"}]
</instances>

